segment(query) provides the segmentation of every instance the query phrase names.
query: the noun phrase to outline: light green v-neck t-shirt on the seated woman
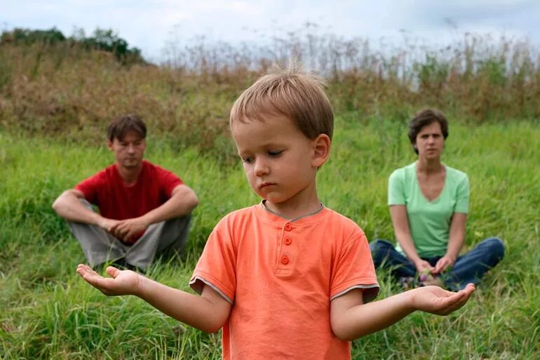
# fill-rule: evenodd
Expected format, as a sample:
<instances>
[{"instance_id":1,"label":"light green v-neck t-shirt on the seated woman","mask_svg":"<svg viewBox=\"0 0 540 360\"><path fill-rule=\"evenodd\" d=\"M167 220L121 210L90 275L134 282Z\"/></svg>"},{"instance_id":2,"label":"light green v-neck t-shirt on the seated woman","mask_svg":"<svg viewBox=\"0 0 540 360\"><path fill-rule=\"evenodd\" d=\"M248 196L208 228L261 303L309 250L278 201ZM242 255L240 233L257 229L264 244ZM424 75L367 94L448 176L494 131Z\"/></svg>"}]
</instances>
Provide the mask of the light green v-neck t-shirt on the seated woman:
<instances>
[{"instance_id":1,"label":"light green v-neck t-shirt on the seated woman","mask_svg":"<svg viewBox=\"0 0 540 360\"><path fill-rule=\"evenodd\" d=\"M420 258L445 255L452 215L468 212L466 173L450 166L445 168L443 191L433 201L426 199L418 185L416 161L398 168L389 178L388 204L407 207L411 236ZM396 250L403 253L399 244Z\"/></svg>"}]
</instances>

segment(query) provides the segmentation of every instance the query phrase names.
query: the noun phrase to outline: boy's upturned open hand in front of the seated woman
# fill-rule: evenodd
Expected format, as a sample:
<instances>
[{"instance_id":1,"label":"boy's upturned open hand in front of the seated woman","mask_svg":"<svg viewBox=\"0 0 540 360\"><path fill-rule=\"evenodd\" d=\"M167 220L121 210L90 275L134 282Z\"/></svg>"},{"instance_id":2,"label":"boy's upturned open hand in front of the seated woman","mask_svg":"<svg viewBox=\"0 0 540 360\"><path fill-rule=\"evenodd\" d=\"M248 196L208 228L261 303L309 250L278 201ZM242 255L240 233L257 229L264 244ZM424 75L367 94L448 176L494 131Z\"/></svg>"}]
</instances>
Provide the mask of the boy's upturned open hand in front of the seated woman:
<instances>
[{"instance_id":1,"label":"boy's upturned open hand in front of the seated woman","mask_svg":"<svg viewBox=\"0 0 540 360\"><path fill-rule=\"evenodd\" d=\"M463 290L454 293L438 286L424 286L408 291L412 296L412 307L437 315L447 315L459 309L467 302L475 290L468 284Z\"/></svg>"}]
</instances>

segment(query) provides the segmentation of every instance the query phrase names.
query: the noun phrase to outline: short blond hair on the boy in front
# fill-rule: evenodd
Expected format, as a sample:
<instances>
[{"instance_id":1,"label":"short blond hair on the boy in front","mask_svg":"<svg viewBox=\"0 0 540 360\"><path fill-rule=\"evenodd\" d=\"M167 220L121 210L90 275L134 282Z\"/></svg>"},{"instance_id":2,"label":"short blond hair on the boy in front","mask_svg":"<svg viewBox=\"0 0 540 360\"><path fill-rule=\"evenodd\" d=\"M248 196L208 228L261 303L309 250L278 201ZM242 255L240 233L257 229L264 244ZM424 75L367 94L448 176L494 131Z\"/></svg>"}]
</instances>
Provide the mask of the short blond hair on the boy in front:
<instances>
[{"instance_id":1,"label":"short blond hair on the boy in front","mask_svg":"<svg viewBox=\"0 0 540 360\"><path fill-rule=\"evenodd\" d=\"M267 116L285 116L313 140L320 134L332 139L334 112L324 91L325 82L302 72L299 65L278 69L259 78L234 102L229 125L236 121L264 121Z\"/></svg>"}]
</instances>

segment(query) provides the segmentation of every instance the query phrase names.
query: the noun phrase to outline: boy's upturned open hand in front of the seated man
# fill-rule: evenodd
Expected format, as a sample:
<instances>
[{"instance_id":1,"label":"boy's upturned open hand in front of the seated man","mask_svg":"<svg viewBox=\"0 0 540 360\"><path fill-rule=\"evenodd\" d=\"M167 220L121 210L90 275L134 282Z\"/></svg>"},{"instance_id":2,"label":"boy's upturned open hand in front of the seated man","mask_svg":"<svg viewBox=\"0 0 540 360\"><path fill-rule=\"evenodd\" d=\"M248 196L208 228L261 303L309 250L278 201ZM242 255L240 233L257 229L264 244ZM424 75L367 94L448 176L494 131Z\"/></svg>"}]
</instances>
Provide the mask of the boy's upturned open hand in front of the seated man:
<instances>
[{"instance_id":1,"label":"boy's upturned open hand in front of the seated man","mask_svg":"<svg viewBox=\"0 0 540 360\"><path fill-rule=\"evenodd\" d=\"M88 265L77 266L77 274L104 295L135 295L137 293L142 278L140 274L131 270L119 270L112 266L107 267L106 272L112 277L103 277Z\"/></svg>"}]
</instances>

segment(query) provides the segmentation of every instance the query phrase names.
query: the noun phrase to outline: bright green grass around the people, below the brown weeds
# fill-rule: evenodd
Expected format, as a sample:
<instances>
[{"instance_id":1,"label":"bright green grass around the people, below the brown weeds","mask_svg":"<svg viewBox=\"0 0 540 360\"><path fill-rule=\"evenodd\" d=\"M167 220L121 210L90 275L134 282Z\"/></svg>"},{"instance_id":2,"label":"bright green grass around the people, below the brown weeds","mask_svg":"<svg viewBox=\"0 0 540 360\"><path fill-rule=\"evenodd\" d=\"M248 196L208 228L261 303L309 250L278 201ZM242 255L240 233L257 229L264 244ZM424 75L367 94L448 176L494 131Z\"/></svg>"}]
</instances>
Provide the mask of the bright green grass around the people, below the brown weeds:
<instances>
[{"instance_id":1,"label":"bright green grass around the people, below the brown weeds","mask_svg":"<svg viewBox=\"0 0 540 360\"><path fill-rule=\"evenodd\" d=\"M332 156L319 173L324 204L353 219L368 239L393 239L386 181L414 161L403 122L342 113ZM466 248L500 236L506 256L463 309L415 313L353 342L353 359L540 358L540 126L538 121L450 123L443 161L468 173ZM79 244L50 204L63 189L110 164L104 146L0 132L0 359L220 359L220 335L183 326L137 298L106 298L75 268ZM103 143L104 145L104 143ZM224 145L227 146L227 145ZM259 201L239 161L150 136L147 159L197 192L189 251L148 276L187 290L205 239L229 211ZM380 298L399 291L379 273ZM309 331L309 329L306 329Z\"/></svg>"}]
</instances>

